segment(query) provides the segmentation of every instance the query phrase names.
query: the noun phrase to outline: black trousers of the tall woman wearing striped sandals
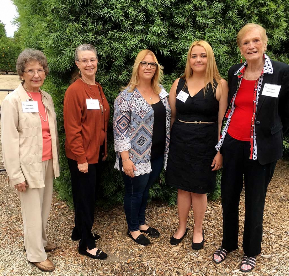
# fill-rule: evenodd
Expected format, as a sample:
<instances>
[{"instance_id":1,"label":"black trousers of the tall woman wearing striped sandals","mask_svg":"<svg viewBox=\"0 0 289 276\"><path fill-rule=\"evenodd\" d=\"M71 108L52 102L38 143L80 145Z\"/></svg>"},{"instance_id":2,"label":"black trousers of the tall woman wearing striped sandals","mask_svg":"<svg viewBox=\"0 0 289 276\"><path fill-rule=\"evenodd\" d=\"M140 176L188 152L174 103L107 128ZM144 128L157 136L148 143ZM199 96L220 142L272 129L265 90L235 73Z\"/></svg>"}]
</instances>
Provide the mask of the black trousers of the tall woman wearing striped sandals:
<instances>
[{"instance_id":1,"label":"black trousers of the tall woman wearing striped sandals","mask_svg":"<svg viewBox=\"0 0 289 276\"><path fill-rule=\"evenodd\" d=\"M267 187L273 177L277 161L261 165L258 160L250 160L250 142L236 140L228 133L222 146L222 155L222 247L228 252L238 248L239 201L244 177L243 250L245 255L258 255L261 253L263 212Z\"/></svg>"}]
</instances>

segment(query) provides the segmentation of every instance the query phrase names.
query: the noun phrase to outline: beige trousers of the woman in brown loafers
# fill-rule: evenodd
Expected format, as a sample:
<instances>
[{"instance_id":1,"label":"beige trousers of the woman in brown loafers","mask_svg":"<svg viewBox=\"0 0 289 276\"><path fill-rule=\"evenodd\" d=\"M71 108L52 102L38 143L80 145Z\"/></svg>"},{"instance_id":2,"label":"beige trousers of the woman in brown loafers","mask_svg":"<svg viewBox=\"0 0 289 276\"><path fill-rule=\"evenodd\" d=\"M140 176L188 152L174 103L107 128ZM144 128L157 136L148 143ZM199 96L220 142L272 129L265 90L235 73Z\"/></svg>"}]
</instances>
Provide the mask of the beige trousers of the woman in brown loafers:
<instances>
[{"instance_id":1,"label":"beige trousers of the woman in brown loafers","mask_svg":"<svg viewBox=\"0 0 289 276\"><path fill-rule=\"evenodd\" d=\"M53 191L53 161L42 161L43 188L26 188L17 192L21 202L24 229L24 246L30 262L42 262L47 258L44 247L47 245L46 225L51 208Z\"/></svg>"}]
</instances>

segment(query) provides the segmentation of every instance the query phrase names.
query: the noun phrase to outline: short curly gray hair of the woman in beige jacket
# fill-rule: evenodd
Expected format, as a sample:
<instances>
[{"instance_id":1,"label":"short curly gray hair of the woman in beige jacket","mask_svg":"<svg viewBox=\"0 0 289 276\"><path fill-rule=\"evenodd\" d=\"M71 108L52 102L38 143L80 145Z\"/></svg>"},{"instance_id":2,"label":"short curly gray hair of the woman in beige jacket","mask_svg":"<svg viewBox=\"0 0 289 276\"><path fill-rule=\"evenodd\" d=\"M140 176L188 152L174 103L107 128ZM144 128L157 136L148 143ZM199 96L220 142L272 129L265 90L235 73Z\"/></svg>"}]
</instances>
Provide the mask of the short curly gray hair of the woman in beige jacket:
<instances>
[{"instance_id":1,"label":"short curly gray hair of the woman in beige jacket","mask_svg":"<svg viewBox=\"0 0 289 276\"><path fill-rule=\"evenodd\" d=\"M27 49L24 49L19 54L17 58L17 62L16 62L16 70L20 79L21 79L21 76L23 75L23 72L25 71L26 66L33 61L38 61L39 64L43 67L45 71L45 75L46 76L48 75L49 69L48 69L47 58L43 54L43 52L36 50L36 49L27 48Z\"/></svg>"}]
</instances>

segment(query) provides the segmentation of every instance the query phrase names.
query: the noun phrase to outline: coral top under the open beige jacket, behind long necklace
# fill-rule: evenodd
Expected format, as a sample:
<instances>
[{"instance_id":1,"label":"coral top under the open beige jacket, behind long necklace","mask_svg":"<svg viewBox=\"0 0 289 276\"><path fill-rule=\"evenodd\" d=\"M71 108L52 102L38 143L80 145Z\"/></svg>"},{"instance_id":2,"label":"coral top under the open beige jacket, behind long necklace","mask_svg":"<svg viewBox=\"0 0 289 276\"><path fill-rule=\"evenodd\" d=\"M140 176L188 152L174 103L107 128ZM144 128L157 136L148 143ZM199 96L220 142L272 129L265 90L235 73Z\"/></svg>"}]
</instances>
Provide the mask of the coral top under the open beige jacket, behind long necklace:
<instances>
[{"instance_id":1,"label":"coral top under the open beige jacket, behind long necklace","mask_svg":"<svg viewBox=\"0 0 289 276\"><path fill-rule=\"evenodd\" d=\"M46 118L45 116L45 108L41 99L41 94L39 92L30 92L33 100L38 103L38 111L42 115L42 117ZM30 95L27 93L30 97ZM43 141L43 148L42 148L42 161L52 159L52 145L51 145L51 136L49 130L48 119L46 122L40 117L41 126L42 126L42 141Z\"/></svg>"}]
</instances>

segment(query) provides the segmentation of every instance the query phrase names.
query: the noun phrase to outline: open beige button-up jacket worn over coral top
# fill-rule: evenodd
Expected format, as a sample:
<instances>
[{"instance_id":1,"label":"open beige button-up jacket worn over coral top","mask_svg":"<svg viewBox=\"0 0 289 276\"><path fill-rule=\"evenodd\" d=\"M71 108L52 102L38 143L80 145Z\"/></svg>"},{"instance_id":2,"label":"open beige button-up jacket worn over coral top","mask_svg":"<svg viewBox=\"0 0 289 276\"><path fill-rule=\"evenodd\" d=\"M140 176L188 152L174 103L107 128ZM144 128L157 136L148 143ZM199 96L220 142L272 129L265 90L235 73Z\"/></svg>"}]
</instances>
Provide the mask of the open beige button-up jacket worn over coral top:
<instances>
[{"instance_id":1,"label":"open beige button-up jacket worn over coral top","mask_svg":"<svg viewBox=\"0 0 289 276\"><path fill-rule=\"evenodd\" d=\"M56 113L52 97L40 91L45 98L52 142L54 177L59 176L59 141ZM43 188L42 127L38 112L23 113L22 102L32 101L20 84L7 95L1 106L1 143L4 166L11 187L26 180L29 188Z\"/></svg>"}]
</instances>

